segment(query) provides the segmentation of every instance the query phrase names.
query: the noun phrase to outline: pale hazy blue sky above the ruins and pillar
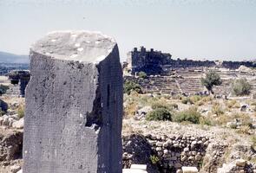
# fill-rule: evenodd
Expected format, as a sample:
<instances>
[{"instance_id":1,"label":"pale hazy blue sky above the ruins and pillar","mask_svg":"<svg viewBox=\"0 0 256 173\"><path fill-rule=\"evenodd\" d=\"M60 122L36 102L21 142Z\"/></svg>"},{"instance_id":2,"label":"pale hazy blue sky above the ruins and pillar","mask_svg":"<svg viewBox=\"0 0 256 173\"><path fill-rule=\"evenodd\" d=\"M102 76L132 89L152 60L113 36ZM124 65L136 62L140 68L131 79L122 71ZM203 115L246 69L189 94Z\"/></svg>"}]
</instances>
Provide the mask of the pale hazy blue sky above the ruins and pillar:
<instances>
[{"instance_id":1,"label":"pale hazy blue sky above the ruins and pillar","mask_svg":"<svg viewBox=\"0 0 256 173\"><path fill-rule=\"evenodd\" d=\"M61 29L112 35L122 59L141 45L174 58L256 59L256 0L0 0L0 51L29 54Z\"/></svg>"}]
</instances>

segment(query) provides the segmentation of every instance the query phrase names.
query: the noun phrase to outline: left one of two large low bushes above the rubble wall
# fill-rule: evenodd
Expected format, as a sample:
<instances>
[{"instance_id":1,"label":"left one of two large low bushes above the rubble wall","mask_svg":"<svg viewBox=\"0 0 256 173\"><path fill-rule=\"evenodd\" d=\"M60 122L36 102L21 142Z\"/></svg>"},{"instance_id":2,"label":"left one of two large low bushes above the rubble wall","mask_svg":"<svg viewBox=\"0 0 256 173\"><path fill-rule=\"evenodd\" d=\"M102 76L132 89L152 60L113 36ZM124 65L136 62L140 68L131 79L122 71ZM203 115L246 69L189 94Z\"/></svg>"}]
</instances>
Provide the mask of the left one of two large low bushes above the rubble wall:
<instances>
[{"instance_id":1,"label":"left one of two large low bushes above the rubble wall","mask_svg":"<svg viewBox=\"0 0 256 173\"><path fill-rule=\"evenodd\" d=\"M148 112L146 120L148 121L172 121L172 114L166 108L156 108Z\"/></svg>"}]
</instances>

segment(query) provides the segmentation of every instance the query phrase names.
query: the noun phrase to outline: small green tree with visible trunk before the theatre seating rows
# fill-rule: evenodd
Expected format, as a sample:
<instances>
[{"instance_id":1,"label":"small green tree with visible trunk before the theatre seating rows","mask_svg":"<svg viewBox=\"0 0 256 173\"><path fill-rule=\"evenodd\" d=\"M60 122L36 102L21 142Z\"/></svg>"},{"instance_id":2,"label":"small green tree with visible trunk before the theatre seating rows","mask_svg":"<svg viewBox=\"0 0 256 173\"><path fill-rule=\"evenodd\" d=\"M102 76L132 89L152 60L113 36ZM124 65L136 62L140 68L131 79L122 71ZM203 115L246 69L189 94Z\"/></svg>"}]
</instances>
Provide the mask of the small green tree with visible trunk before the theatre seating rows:
<instances>
[{"instance_id":1,"label":"small green tree with visible trunk before the theatre seating rows","mask_svg":"<svg viewBox=\"0 0 256 173\"><path fill-rule=\"evenodd\" d=\"M216 72L209 71L205 78L201 79L201 84L207 87L209 93L213 93L213 86L221 85L220 75Z\"/></svg>"}]
</instances>

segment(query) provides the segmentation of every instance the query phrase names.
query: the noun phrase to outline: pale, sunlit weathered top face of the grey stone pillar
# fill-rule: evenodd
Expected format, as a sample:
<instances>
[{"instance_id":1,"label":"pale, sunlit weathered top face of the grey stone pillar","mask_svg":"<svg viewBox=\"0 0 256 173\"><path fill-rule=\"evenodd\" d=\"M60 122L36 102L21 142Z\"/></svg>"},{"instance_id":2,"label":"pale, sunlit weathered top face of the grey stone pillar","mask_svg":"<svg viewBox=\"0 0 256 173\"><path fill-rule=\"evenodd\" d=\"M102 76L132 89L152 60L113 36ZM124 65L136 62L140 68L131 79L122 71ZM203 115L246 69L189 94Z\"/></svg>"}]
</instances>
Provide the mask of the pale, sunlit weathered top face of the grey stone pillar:
<instances>
[{"instance_id":1,"label":"pale, sunlit weathered top face of the grey stone pillar","mask_svg":"<svg viewBox=\"0 0 256 173\"><path fill-rule=\"evenodd\" d=\"M101 32L53 31L30 48L53 59L97 63L112 52L116 42Z\"/></svg>"}]
</instances>

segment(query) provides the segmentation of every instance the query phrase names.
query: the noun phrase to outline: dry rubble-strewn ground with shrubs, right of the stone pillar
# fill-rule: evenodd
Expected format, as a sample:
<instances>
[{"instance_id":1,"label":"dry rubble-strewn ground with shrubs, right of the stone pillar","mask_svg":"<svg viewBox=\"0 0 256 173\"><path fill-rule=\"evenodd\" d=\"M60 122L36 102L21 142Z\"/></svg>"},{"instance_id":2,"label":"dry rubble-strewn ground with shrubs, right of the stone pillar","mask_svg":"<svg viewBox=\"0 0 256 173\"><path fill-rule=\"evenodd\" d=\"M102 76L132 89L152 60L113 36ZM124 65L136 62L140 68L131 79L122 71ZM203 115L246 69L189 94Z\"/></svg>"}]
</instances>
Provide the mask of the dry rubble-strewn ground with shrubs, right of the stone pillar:
<instances>
[{"instance_id":1,"label":"dry rubble-strewn ground with shrubs, right of the stone pillar","mask_svg":"<svg viewBox=\"0 0 256 173\"><path fill-rule=\"evenodd\" d=\"M200 172L256 172L255 101L248 97L126 95L124 166L145 163L152 169L148 172L181 172L182 166L197 167ZM150 112L159 107L171 110L172 119L148 120ZM200 116L198 122L193 109ZM181 112L194 117L181 121L177 119Z\"/></svg>"}]
</instances>

